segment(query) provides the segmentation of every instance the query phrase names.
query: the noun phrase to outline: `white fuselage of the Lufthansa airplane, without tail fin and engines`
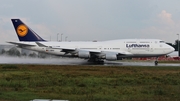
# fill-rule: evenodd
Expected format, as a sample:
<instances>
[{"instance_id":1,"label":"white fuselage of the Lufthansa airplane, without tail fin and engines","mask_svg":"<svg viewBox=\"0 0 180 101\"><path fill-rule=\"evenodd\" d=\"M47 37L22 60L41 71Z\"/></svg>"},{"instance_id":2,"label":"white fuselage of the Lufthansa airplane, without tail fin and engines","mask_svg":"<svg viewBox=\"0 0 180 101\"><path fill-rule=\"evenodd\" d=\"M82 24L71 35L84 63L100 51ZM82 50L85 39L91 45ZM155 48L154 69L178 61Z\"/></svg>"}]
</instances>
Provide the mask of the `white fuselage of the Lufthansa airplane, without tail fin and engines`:
<instances>
[{"instance_id":1,"label":"white fuselage of the Lufthansa airplane, without tail fin and engines","mask_svg":"<svg viewBox=\"0 0 180 101\"><path fill-rule=\"evenodd\" d=\"M35 46L21 47L34 51L60 56L76 56L66 54L63 49L99 52L103 54L115 53L118 57L156 57L169 54L174 48L158 39L121 39L102 42L39 42L47 47L40 47L35 42L21 42ZM72 52L73 53L73 52Z\"/></svg>"}]
</instances>

